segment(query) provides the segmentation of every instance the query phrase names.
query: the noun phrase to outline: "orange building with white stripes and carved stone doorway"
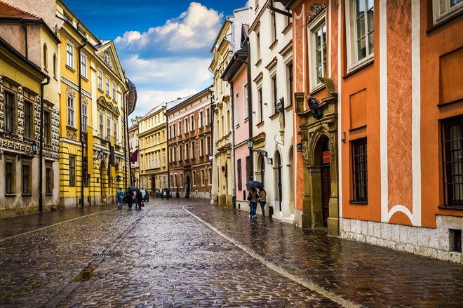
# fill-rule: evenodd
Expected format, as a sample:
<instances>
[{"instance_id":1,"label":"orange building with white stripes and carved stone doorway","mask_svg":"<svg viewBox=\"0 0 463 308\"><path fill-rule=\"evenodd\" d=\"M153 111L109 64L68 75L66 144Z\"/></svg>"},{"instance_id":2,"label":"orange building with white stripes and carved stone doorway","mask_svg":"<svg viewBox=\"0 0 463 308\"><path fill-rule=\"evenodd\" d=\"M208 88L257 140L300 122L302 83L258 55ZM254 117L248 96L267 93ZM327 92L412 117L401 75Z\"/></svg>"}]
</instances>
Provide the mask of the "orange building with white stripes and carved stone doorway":
<instances>
[{"instance_id":1,"label":"orange building with white stripes and carved stone doorway","mask_svg":"<svg viewBox=\"0 0 463 308\"><path fill-rule=\"evenodd\" d=\"M282 2L300 224L462 262L463 1Z\"/></svg>"}]
</instances>

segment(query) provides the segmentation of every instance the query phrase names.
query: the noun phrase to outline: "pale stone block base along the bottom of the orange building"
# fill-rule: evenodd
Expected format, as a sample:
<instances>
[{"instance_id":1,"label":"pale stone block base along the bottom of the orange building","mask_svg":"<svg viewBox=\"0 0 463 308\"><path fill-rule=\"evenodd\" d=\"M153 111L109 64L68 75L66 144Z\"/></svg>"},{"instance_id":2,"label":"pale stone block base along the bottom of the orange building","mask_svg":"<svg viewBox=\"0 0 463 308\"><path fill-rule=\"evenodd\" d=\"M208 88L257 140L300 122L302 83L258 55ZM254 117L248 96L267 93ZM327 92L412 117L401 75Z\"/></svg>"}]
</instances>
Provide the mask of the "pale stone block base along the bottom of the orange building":
<instances>
[{"instance_id":1,"label":"pale stone block base along the bottom of the orange building","mask_svg":"<svg viewBox=\"0 0 463 308\"><path fill-rule=\"evenodd\" d=\"M462 252L455 251L455 235L462 236L463 217L436 215L436 225L436 229L431 229L340 218L340 236L463 264ZM461 242L462 239L459 239Z\"/></svg>"}]
</instances>

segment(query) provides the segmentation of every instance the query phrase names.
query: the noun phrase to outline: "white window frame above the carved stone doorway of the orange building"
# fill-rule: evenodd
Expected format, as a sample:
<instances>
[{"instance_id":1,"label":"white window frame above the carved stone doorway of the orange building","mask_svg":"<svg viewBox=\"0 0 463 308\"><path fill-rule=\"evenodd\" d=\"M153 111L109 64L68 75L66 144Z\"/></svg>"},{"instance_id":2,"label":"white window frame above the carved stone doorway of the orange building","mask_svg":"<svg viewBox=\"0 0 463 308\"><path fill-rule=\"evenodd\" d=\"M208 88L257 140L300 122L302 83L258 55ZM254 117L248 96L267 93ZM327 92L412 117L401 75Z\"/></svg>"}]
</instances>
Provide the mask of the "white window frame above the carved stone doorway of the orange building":
<instances>
[{"instance_id":1,"label":"white window frame above the carved stone doorway of the orange building","mask_svg":"<svg viewBox=\"0 0 463 308\"><path fill-rule=\"evenodd\" d=\"M318 76L317 76L317 70L316 70L316 56L317 56L317 53L316 53L316 33L318 32L318 30L320 30L322 27L325 27L325 29L327 28L327 25L326 25L326 10L323 14L320 14L317 16L317 18L312 21L308 27L308 31L307 31L307 35L309 36L307 38L307 41L309 42L309 74L310 74L310 78L309 78L309 86L310 86L310 92L314 92L314 91L318 91L320 88L323 88L324 83L322 83L319 79L318 79ZM326 36L326 39L328 40L328 36ZM323 45L323 42L322 42L322 45ZM329 61L329 58L328 58L328 41L325 42L325 46L326 46L326 70L328 71L328 61ZM323 69L323 65L322 65L322 69ZM328 76L328 72L324 72L324 75L323 76Z\"/></svg>"}]
</instances>

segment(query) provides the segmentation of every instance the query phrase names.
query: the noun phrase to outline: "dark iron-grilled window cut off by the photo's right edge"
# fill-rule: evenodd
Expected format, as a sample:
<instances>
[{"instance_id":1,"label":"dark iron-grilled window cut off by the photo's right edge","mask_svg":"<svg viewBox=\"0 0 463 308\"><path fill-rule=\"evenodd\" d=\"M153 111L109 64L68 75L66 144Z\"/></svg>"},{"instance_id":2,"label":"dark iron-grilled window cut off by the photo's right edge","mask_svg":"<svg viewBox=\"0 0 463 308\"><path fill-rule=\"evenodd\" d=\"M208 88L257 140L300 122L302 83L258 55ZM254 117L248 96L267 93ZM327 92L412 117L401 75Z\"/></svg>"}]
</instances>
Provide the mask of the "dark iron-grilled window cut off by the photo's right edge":
<instances>
[{"instance_id":1,"label":"dark iron-grilled window cut off by the photo's right edge","mask_svg":"<svg viewBox=\"0 0 463 308\"><path fill-rule=\"evenodd\" d=\"M463 207L463 116L441 122L444 206Z\"/></svg>"}]
</instances>

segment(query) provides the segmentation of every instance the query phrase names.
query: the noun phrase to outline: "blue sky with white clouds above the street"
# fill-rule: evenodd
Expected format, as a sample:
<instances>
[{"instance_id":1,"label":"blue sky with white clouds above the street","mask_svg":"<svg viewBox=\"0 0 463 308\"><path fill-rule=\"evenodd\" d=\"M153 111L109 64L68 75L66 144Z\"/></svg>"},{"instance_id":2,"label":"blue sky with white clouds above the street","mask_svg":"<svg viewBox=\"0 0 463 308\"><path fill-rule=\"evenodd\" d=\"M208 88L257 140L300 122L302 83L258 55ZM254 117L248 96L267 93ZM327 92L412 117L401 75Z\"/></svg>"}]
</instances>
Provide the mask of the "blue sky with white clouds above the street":
<instances>
[{"instance_id":1,"label":"blue sky with white clouds above the street","mask_svg":"<svg viewBox=\"0 0 463 308\"><path fill-rule=\"evenodd\" d=\"M90 32L113 40L137 87L130 119L212 85L210 48L224 18L246 0L65 0Z\"/></svg>"}]
</instances>

